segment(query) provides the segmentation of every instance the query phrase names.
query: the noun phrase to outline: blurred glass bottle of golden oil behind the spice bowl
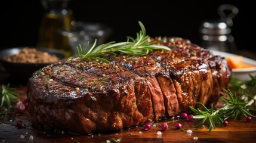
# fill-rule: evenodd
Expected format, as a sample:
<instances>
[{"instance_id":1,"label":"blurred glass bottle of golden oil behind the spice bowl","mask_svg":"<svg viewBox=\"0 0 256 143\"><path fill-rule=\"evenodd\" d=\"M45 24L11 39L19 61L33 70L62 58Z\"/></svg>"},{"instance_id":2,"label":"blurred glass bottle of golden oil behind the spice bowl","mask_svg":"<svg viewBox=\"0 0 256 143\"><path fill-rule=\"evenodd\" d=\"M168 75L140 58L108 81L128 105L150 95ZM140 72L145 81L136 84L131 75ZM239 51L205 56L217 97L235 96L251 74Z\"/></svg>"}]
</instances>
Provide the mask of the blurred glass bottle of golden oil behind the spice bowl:
<instances>
[{"instance_id":1,"label":"blurred glass bottle of golden oil behind the spice bowl","mask_svg":"<svg viewBox=\"0 0 256 143\"><path fill-rule=\"evenodd\" d=\"M67 57L72 55L72 48L66 36L61 32L70 31L73 21L72 10L67 8L70 0L42 0L46 13L41 21L38 35L38 47L59 49Z\"/></svg>"}]
</instances>

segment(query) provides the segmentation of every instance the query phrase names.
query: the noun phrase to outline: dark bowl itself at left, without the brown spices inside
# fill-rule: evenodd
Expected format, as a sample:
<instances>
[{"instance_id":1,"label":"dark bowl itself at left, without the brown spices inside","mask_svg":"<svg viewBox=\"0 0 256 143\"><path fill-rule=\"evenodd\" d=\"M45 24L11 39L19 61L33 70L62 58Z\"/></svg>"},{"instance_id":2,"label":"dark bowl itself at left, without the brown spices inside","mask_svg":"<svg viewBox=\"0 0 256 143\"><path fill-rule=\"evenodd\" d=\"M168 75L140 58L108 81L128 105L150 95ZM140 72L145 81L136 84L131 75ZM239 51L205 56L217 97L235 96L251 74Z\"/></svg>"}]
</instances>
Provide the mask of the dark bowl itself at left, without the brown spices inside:
<instances>
[{"instance_id":1,"label":"dark bowl itself at left, without the brown spices inside","mask_svg":"<svg viewBox=\"0 0 256 143\"><path fill-rule=\"evenodd\" d=\"M63 52L56 49L28 47L48 52L50 55L56 55L59 60L51 63L14 63L4 59L6 56L17 54L23 48L24 47L8 48L0 51L0 64L3 66L5 75L8 76L7 82L26 84L29 77L32 76L35 71L50 64L63 62L67 58Z\"/></svg>"}]
</instances>

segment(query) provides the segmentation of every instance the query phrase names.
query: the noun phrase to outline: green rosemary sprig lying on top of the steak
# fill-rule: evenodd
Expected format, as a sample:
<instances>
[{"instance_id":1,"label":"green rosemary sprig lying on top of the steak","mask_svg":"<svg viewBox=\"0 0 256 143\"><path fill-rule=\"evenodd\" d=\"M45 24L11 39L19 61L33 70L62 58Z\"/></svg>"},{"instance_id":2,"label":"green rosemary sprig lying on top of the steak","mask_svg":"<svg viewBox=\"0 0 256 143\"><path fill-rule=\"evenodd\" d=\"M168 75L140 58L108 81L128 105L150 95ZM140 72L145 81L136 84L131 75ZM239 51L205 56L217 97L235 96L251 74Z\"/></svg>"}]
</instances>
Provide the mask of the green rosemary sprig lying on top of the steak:
<instances>
[{"instance_id":1,"label":"green rosemary sprig lying on top of the steak","mask_svg":"<svg viewBox=\"0 0 256 143\"><path fill-rule=\"evenodd\" d=\"M167 46L156 45L156 43L150 41L150 37L146 35L144 25L140 21L138 21L138 23L140 24L141 30L140 33L137 33L136 39L127 36L127 42L116 43L113 41L98 45L97 47L95 47L97 43L97 39L95 39L95 42L91 48L89 47L89 42L87 43L84 51L81 45L77 46L76 50L78 52L78 56L85 59L91 58L109 63L108 60L101 58L100 56L107 53L116 55L117 52L127 55L147 55L150 51L155 49L162 49L166 51L171 50Z\"/></svg>"}]
</instances>

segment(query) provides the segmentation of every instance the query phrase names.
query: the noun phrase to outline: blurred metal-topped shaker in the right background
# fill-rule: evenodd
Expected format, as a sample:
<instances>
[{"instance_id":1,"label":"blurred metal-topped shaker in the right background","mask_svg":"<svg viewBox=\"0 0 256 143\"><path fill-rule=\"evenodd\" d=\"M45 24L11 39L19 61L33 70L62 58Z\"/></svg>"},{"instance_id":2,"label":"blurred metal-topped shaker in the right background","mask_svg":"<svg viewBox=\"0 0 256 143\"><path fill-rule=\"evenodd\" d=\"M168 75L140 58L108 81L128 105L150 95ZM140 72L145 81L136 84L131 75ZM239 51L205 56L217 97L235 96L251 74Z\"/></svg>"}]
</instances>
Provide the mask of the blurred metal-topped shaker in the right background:
<instances>
[{"instance_id":1,"label":"blurred metal-topped shaker in the right background","mask_svg":"<svg viewBox=\"0 0 256 143\"><path fill-rule=\"evenodd\" d=\"M205 20L202 22L199 32L201 33L201 47L223 52L236 52L236 44L231 34L233 18L239 10L234 5L223 4L218 7L218 20Z\"/></svg>"}]
</instances>

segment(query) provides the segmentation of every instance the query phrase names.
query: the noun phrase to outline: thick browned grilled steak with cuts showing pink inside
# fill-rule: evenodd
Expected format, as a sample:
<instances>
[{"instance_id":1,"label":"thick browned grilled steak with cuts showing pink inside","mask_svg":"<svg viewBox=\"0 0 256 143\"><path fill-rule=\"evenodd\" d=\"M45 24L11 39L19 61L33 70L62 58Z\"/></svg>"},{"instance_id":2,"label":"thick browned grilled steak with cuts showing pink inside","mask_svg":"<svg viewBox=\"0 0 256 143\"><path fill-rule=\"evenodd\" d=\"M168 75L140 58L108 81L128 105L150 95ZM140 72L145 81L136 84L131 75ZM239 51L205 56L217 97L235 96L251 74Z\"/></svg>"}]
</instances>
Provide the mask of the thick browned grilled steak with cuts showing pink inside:
<instances>
[{"instance_id":1,"label":"thick browned grilled steak with cuts showing pink inside","mask_svg":"<svg viewBox=\"0 0 256 143\"><path fill-rule=\"evenodd\" d=\"M226 60L187 39L152 38L171 51L105 55L111 63L69 58L38 70L27 85L34 125L106 133L216 104L232 74Z\"/></svg>"}]
</instances>

